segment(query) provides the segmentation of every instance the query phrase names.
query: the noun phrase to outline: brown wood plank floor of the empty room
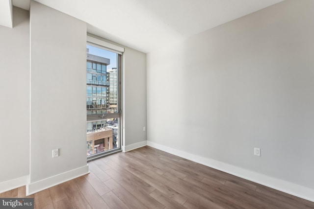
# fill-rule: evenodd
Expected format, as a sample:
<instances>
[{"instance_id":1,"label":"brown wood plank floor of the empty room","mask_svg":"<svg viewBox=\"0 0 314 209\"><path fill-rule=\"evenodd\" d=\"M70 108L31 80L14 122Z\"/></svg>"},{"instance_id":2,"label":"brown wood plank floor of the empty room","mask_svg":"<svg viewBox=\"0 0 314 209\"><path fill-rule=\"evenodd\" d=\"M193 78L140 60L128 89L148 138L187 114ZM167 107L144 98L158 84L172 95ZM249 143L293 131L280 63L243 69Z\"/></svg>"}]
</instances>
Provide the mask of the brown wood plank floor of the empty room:
<instances>
[{"instance_id":1,"label":"brown wood plank floor of the empty room","mask_svg":"<svg viewBox=\"0 0 314 209\"><path fill-rule=\"evenodd\" d=\"M88 163L90 174L35 193L36 209L314 209L314 203L142 147ZM25 197L25 186L0 194Z\"/></svg>"}]
</instances>

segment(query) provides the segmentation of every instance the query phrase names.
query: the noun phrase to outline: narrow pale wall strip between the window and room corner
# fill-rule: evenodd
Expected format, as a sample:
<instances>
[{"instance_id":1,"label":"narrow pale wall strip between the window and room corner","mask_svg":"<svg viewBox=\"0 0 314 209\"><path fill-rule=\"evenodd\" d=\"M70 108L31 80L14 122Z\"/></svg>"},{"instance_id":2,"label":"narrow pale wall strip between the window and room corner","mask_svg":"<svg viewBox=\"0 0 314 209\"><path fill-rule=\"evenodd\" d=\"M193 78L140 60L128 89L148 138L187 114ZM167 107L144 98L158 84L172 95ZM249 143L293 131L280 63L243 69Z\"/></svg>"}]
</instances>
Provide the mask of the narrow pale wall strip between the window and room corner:
<instances>
[{"instance_id":1,"label":"narrow pale wall strip between the window and room corner","mask_svg":"<svg viewBox=\"0 0 314 209\"><path fill-rule=\"evenodd\" d=\"M125 146L147 140L146 54L126 47L124 53L124 131Z\"/></svg>"}]
</instances>

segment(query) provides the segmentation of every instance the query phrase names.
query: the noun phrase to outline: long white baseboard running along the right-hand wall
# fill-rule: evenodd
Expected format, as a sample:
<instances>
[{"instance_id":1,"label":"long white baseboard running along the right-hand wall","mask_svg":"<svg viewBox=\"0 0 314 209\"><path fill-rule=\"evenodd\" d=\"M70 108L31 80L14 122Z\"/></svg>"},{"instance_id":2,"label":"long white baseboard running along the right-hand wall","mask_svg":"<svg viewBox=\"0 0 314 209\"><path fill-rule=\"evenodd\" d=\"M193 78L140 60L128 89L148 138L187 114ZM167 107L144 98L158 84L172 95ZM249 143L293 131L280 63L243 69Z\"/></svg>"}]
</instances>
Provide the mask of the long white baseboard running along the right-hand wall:
<instances>
[{"instance_id":1,"label":"long white baseboard running along the right-hand wall","mask_svg":"<svg viewBox=\"0 0 314 209\"><path fill-rule=\"evenodd\" d=\"M276 190L283 191L288 194L314 202L314 189L312 188L296 185L291 182L287 182L281 179L277 179L271 176L267 176L267 175L257 173L251 170L247 170L241 167L237 167L235 165L231 165L228 163L223 163L223 162L219 162L213 159L190 154L188 152L174 149L171 147L167 147L167 146L164 146L164 145L152 142L152 141L147 141L147 145L154 147L156 149L162 150L164 152L168 152L170 154L182 157L184 159L194 161L196 163L200 163L200 164L215 168L217 170L230 173L240 178L247 179L249 181L252 181L252 182L264 185L264 186L268 186Z\"/></svg>"}]
</instances>

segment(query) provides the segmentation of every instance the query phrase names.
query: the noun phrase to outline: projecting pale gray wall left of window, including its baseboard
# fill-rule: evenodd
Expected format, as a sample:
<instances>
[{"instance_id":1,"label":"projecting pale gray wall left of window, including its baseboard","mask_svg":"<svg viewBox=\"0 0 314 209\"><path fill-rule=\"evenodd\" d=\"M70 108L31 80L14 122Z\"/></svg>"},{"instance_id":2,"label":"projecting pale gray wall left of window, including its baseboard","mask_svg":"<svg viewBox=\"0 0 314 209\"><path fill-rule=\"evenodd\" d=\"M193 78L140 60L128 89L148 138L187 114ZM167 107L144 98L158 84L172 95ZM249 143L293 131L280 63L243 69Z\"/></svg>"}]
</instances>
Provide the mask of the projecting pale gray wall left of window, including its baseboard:
<instances>
[{"instance_id":1,"label":"projecting pale gray wall left of window, including its baseboard","mask_svg":"<svg viewBox=\"0 0 314 209\"><path fill-rule=\"evenodd\" d=\"M82 85L86 83L86 23L32 1L30 24L33 192L65 181L69 172L72 178L88 172L86 86ZM60 156L52 158L56 148Z\"/></svg>"}]
</instances>

